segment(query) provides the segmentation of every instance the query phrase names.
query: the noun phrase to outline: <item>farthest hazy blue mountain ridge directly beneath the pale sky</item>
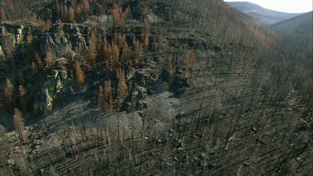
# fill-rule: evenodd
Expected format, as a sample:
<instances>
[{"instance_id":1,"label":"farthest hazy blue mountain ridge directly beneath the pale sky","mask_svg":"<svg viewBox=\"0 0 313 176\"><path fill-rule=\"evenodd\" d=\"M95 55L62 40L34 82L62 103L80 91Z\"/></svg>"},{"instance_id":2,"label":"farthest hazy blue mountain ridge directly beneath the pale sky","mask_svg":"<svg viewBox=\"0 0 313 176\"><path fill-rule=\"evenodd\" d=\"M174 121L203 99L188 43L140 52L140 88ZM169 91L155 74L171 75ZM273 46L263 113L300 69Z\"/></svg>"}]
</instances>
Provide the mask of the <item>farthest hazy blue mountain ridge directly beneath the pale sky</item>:
<instances>
[{"instance_id":1,"label":"farthest hazy blue mountain ridge directly beneath the pale sky","mask_svg":"<svg viewBox=\"0 0 313 176\"><path fill-rule=\"evenodd\" d=\"M246 15L251 16L258 22L265 25L270 25L280 22L298 15L301 13L285 13L263 8L259 5L250 2L227 2L230 6L244 12Z\"/></svg>"}]
</instances>

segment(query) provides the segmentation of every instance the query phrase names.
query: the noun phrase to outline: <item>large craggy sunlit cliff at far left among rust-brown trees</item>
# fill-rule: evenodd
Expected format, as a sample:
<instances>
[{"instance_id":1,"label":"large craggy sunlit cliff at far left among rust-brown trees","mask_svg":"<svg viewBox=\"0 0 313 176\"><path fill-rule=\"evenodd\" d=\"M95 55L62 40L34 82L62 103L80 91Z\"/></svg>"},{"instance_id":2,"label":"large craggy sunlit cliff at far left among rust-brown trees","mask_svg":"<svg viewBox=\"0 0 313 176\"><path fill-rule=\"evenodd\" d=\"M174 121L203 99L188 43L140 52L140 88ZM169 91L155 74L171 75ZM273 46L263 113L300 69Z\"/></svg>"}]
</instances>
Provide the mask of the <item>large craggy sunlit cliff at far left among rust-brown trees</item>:
<instances>
[{"instance_id":1,"label":"large craggy sunlit cliff at far left among rust-brown trees","mask_svg":"<svg viewBox=\"0 0 313 176\"><path fill-rule=\"evenodd\" d=\"M24 77L22 80L27 80L23 83L26 84L24 87L31 89L32 102L29 103L33 105L33 111L37 114L47 115L51 112L65 84L69 85L68 89L75 87L71 74L68 75L72 69L66 66L70 65L69 62L73 61L76 53L73 52L69 58L67 52L77 51L77 48L81 51L88 49L90 25L62 23L61 26L62 31L51 30L54 32L40 33L37 26L29 23L3 22L0 25L0 83L5 85L7 78L12 79L15 74L22 75ZM39 54L39 61L36 61L37 58L33 55L35 52ZM45 63L47 52L51 53L56 66L49 67ZM84 60L84 56L79 56L79 61ZM39 66L37 62L42 62L43 68L32 70L32 62L37 67ZM12 73L12 69L17 69L18 73ZM31 75L32 71L36 74ZM29 76L26 76L27 74Z\"/></svg>"}]
</instances>

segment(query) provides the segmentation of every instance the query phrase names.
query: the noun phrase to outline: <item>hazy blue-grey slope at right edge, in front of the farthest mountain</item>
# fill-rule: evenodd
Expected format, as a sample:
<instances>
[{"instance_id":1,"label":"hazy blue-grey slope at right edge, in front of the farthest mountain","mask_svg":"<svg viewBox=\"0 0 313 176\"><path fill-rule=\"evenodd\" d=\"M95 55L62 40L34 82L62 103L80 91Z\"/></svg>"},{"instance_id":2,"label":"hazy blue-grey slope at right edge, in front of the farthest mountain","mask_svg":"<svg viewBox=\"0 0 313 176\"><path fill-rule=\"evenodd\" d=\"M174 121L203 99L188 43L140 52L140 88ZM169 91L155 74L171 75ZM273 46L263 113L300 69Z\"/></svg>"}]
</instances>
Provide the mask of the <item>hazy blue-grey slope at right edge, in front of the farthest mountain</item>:
<instances>
[{"instance_id":1,"label":"hazy blue-grey slope at right edge, in front of the farthest mountain","mask_svg":"<svg viewBox=\"0 0 313 176\"><path fill-rule=\"evenodd\" d=\"M292 17L290 19L269 25L276 32L293 34L311 34L313 26L313 12Z\"/></svg>"}]
</instances>

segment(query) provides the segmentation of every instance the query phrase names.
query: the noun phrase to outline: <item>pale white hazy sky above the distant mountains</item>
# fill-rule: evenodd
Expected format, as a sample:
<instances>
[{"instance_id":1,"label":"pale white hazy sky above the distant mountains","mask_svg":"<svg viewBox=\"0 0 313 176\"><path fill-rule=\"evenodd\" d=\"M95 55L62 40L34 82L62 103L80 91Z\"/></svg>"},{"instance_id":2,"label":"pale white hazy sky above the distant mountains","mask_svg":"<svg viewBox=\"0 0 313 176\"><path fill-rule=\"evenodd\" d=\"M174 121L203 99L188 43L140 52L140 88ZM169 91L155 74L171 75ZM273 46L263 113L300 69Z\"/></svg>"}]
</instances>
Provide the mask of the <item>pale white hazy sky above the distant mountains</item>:
<instances>
[{"instance_id":1,"label":"pale white hazy sky above the distant mountains","mask_svg":"<svg viewBox=\"0 0 313 176\"><path fill-rule=\"evenodd\" d=\"M258 4L270 10L288 13L312 11L312 0L224 0L225 2L246 1Z\"/></svg>"}]
</instances>

